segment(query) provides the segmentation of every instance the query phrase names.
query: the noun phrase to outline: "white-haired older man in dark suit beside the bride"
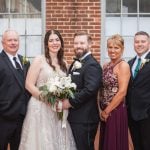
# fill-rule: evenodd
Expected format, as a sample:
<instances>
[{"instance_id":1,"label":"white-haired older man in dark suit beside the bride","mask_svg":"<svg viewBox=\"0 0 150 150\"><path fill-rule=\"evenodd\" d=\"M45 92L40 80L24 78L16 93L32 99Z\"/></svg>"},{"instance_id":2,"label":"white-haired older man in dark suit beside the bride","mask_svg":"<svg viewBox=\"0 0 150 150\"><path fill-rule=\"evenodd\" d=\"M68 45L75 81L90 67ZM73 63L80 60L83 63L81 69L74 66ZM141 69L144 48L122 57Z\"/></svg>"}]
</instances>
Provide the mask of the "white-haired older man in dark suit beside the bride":
<instances>
[{"instance_id":1,"label":"white-haired older man in dark suit beside the bride","mask_svg":"<svg viewBox=\"0 0 150 150\"><path fill-rule=\"evenodd\" d=\"M25 90L29 62L17 54L19 35L7 30L0 53L0 150L18 150L21 128L30 94Z\"/></svg>"}]
</instances>

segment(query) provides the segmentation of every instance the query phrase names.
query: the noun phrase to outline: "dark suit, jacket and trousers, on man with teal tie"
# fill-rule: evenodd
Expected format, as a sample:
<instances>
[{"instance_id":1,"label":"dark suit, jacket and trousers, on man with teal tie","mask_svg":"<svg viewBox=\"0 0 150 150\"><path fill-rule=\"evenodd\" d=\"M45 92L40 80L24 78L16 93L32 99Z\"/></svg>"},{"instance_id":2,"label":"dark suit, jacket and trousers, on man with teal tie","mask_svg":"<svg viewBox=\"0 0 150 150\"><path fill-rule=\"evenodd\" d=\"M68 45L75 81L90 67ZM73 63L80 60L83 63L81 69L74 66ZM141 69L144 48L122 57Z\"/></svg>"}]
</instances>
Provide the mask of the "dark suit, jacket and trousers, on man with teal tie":
<instances>
[{"instance_id":1,"label":"dark suit, jacket and trousers, on man with teal tie","mask_svg":"<svg viewBox=\"0 0 150 150\"><path fill-rule=\"evenodd\" d=\"M150 52L145 57L150 59ZM129 61L132 68L136 58ZM129 127L133 138L135 150L150 149L150 62L146 62L139 70L137 76L131 76L128 92L127 107ZM137 130L142 133L138 134ZM148 134L147 134L148 133ZM140 142L145 147L140 147Z\"/></svg>"}]
</instances>

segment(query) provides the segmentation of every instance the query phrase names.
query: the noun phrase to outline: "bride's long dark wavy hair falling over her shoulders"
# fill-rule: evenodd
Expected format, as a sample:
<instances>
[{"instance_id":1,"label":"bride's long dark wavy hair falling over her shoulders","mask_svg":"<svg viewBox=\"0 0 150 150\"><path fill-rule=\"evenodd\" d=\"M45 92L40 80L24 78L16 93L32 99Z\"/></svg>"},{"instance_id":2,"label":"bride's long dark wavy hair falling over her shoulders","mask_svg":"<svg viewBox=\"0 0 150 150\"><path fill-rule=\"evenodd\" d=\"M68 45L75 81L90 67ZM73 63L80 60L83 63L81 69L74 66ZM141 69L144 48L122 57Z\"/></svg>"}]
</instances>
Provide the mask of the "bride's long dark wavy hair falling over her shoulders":
<instances>
[{"instance_id":1,"label":"bride's long dark wavy hair falling over her shoulders","mask_svg":"<svg viewBox=\"0 0 150 150\"><path fill-rule=\"evenodd\" d=\"M56 34L58 36L58 38L60 39L61 47L60 47L60 49L59 49L59 51L57 53L58 64L60 65L60 69L62 71L67 72L66 63L64 62L64 41L63 41L63 38L62 38L61 34L57 30L49 30L45 34L44 48L45 48L45 57L46 57L46 60L47 60L48 64L54 70L56 70L56 67L54 65L52 65L52 59L51 59L51 56L49 55L49 48L48 48L48 40L49 40L49 36L51 34Z\"/></svg>"}]
</instances>

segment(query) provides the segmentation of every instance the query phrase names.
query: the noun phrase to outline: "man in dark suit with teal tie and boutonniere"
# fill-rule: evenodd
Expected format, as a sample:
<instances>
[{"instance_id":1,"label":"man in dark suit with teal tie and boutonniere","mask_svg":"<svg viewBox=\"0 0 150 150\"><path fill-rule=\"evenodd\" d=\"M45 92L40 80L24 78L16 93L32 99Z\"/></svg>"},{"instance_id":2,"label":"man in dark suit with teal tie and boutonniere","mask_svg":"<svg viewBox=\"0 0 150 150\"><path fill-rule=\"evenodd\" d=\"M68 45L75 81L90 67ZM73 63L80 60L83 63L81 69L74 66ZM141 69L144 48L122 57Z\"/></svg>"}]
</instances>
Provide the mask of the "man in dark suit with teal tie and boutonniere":
<instances>
[{"instance_id":1,"label":"man in dark suit with teal tie and boutonniere","mask_svg":"<svg viewBox=\"0 0 150 150\"><path fill-rule=\"evenodd\" d=\"M128 86L129 127L135 150L150 150L150 37L140 31L134 37L137 56L129 61L132 76Z\"/></svg>"}]
</instances>

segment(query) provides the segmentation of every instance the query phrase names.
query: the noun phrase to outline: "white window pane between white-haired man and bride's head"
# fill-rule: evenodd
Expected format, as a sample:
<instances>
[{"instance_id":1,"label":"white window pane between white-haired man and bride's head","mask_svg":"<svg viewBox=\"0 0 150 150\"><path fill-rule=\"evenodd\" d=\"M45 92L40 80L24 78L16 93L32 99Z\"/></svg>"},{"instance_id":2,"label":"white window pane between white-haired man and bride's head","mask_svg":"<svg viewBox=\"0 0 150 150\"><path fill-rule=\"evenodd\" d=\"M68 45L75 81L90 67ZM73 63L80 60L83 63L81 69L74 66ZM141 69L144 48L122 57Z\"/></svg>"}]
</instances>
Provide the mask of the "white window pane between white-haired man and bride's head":
<instances>
[{"instance_id":1,"label":"white window pane between white-haired man and bride's head","mask_svg":"<svg viewBox=\"0 0 150 150\"><path fill-rule=\"evenodd\" d=\"M41 54L41 36L27 36L26 46L27 57L35 57Z\"/></svg>"}]
</instances>

